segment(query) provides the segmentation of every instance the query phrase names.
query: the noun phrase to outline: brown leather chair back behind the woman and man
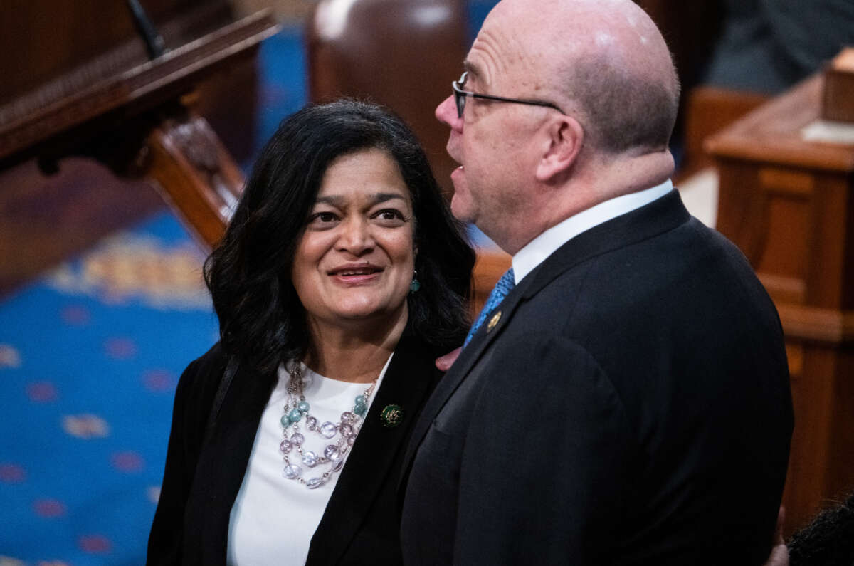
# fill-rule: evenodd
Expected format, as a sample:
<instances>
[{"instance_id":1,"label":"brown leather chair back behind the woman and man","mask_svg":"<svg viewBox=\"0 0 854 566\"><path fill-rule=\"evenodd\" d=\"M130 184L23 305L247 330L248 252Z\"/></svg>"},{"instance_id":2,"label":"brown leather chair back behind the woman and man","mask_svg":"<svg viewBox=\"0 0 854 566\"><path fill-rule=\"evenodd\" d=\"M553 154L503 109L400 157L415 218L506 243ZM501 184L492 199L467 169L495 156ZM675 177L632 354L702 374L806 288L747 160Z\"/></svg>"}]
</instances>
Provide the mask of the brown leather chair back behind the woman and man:
<instances>
[{"instance_id":1,"label":"brown leather chair back behind the woman and man","mask_svg":"<svg viewBox=\"0 0 854 566\"><path fill-rule=\"evenodd\" d=\"M307 25L309 96L366 97L395 110L450 195L457 163L433 112L463 72L466 34L463 0L321 0Z\"/></svg>"}]
</instances>

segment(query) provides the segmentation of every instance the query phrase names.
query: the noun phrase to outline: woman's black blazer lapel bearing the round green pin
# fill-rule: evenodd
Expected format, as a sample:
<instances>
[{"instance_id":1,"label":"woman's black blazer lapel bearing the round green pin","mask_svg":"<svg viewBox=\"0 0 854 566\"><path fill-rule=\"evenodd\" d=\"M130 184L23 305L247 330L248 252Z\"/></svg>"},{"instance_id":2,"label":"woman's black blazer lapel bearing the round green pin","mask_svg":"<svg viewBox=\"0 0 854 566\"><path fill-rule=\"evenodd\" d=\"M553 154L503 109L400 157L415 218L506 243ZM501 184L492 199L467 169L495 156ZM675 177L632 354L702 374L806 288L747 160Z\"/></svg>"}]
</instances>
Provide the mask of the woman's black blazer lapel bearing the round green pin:
<instances>
[{"instance_id":1,"label":"woman's black blazer lapel bearing the round green pin","mask_svg":"<svg viewBox=\"0 0 854 566\"><path fill-rule=\"evenodd\" d=\"M434 353L420 340L408 334L401 337L359 438L314 532L307 564L337 563L383 486L397 481L397 475L392 475L394 464L406 448L409 433L418 418L418 408L430 394L438 374L434 359ZM383 426L380 418L389 404L400 405L403 410L403 421L396 427ZM365 559L370 561L370 557Z\"/></svg>"}]
</instances>

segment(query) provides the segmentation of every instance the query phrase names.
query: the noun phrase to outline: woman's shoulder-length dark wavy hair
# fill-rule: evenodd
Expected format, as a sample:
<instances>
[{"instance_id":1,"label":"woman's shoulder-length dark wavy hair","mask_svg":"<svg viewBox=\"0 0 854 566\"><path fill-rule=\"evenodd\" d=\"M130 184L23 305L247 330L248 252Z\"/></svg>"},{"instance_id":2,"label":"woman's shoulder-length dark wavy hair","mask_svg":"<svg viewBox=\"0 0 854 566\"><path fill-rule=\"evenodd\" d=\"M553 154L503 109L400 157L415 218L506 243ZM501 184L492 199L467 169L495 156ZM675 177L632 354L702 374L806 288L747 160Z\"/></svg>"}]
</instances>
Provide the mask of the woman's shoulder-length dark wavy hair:
<instances>
[{"instance_id":1,"label":"woman's shoulder-length dark wavy hair","mask_svg":"<svg viewBox=\"0 0 854 566\"><path fill-rule=\"evenodd\" d=\"M267 142L225 236L204 267L226 352L261 372L303 356L305 309L290 280L296 247L326 169L337 157L378 148L401 169L415 215L408 326L436 347L465 336L475 255L439 192L418 139L388 109L355 100L310 105Z\"/></svg>"}]
</instances>

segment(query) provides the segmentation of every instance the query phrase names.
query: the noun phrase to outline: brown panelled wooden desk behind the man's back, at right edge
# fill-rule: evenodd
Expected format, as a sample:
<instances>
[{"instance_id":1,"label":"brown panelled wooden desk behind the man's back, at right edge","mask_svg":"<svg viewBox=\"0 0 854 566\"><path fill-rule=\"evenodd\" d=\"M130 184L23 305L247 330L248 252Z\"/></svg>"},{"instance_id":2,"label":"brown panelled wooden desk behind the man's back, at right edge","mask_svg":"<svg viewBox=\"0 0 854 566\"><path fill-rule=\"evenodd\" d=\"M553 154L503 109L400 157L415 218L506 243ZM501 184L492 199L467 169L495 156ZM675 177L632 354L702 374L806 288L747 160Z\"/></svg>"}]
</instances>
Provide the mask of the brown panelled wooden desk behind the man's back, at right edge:
<instances>
[{"instance_id":1,"label":"brown panelled wooden desk behind the man's back, at right edge","mask_svg":"<svg viewBox=\"0 0 854 566\"><path fill-rule=\"evenodd\" d=\"M787 534L854 489L854 145L805 142L817 75L708 139L717 228L780 312L795 411ZM854 125L852 125L854 127Z\"/></svg>"}]
</instances>

